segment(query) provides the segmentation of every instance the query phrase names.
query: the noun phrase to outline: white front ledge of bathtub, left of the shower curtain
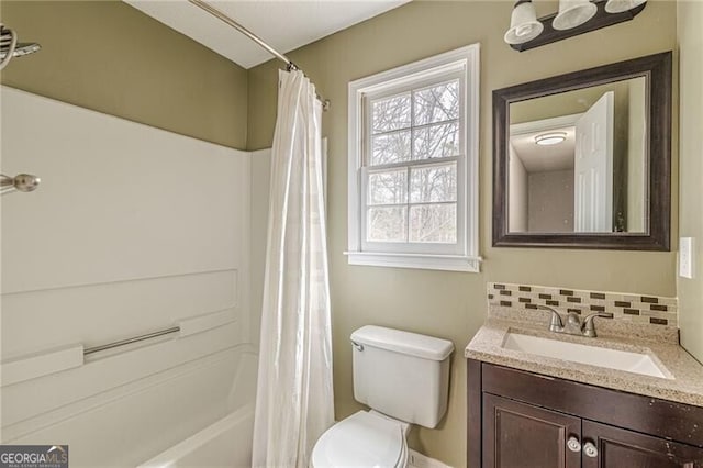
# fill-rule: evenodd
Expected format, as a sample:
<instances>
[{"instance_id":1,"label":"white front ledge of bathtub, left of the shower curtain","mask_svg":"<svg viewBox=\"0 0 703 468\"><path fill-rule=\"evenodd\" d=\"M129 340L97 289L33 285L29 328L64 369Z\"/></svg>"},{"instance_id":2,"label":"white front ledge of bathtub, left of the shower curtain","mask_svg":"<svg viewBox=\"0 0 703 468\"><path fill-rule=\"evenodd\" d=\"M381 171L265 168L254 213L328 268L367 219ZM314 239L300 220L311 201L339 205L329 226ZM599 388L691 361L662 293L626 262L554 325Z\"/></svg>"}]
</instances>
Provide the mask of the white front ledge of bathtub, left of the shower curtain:
<instances>
[{"instance_id":1,"label":"white front ledge of bathtub, left of the shower curtain","mask_svg":"<svg viewBox=\"0 0 703 468\"><path fill-rule=\"evenodd\" d=\"M137 468L248 468L252 466L253 433L252 404L239 408Z\"/></svg>"}]
</instances>

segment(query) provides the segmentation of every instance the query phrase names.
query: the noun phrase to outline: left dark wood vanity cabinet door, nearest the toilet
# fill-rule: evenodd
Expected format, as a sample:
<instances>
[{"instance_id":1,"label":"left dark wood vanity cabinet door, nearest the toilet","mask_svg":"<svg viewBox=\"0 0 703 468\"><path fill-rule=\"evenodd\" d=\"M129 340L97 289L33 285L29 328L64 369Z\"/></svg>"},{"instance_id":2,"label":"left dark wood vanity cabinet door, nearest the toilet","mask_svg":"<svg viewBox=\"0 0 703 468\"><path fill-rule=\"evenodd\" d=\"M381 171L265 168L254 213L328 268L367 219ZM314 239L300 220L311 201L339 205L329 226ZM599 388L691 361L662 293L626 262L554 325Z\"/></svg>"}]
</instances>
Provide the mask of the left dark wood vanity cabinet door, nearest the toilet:
<instances>
[{"instance_id":1,"label":"left dark wood vanity cabinet door, nearest the toilet","mask_svg":"<svg viewBox=\"0 0 703 468\"><path fill-rule=\"evenodd\" d=\"M579 468L581 420L483 393L483 468Z\"/></svg>"}]
</instances>

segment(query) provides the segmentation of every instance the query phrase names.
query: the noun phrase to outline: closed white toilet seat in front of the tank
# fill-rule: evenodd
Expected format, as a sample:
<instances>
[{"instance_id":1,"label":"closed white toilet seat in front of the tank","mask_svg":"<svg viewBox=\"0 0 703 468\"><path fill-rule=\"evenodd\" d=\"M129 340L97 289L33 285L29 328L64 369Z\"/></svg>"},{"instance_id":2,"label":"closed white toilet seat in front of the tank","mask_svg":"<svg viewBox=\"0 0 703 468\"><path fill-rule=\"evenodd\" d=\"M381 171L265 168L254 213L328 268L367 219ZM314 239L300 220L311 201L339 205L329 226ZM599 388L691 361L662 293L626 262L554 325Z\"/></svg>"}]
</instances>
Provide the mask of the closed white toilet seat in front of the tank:
<instances>
[{"instance_id":1,"label":"closed white toilet seat in front of the tank","mask_svg":"<svg viewBox=\"0 0 703 468\"><path fill-rule=\"evenodd\" d=\"M406 424L376 412L359 411L330 427L312 452L314 468L404 468Z\"/></svg>"}]
</instances>

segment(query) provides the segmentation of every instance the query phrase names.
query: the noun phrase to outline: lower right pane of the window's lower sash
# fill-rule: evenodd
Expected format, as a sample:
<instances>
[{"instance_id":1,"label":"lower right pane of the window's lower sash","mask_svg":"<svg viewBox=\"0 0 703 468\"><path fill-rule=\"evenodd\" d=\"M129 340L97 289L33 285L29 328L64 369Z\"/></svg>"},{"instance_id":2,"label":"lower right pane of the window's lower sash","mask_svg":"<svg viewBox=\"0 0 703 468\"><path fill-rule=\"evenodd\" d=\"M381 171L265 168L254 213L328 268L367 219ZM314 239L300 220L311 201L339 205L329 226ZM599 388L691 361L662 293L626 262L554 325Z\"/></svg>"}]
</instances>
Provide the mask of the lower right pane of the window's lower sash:
<instances>
[{"instance_id":1,"label":"lower right pane of the window's lower sash","mask_svg":"<svg viewBox=\"0 0 703 468\"><path fill-rule=\"evenodd\" d=\"M457 205L421 204L410 207L410 242L457 242Z\"/></svg>"}]
</instances>

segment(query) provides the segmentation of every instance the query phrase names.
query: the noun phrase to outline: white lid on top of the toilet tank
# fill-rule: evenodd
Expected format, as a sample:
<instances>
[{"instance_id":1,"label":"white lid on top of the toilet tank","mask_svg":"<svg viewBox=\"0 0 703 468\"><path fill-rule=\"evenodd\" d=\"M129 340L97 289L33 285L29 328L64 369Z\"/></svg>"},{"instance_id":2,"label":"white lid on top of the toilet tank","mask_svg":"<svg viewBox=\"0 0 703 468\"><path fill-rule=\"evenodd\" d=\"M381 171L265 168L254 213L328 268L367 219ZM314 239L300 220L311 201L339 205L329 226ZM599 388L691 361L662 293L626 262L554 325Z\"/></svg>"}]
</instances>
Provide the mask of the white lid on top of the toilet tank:
<instances>
[{"instance_id":1,"label":"white lid on top of the toilet tank","mask_svg":"<svg viewBox=\"0 0 703 468\"><path fill-rule=\"evenodd\" d=\"M376 325L366 325L352 333L352 341L432 360L444 360L454 350L454 344L447 339Z\"/></svg>"}]
</instances>

